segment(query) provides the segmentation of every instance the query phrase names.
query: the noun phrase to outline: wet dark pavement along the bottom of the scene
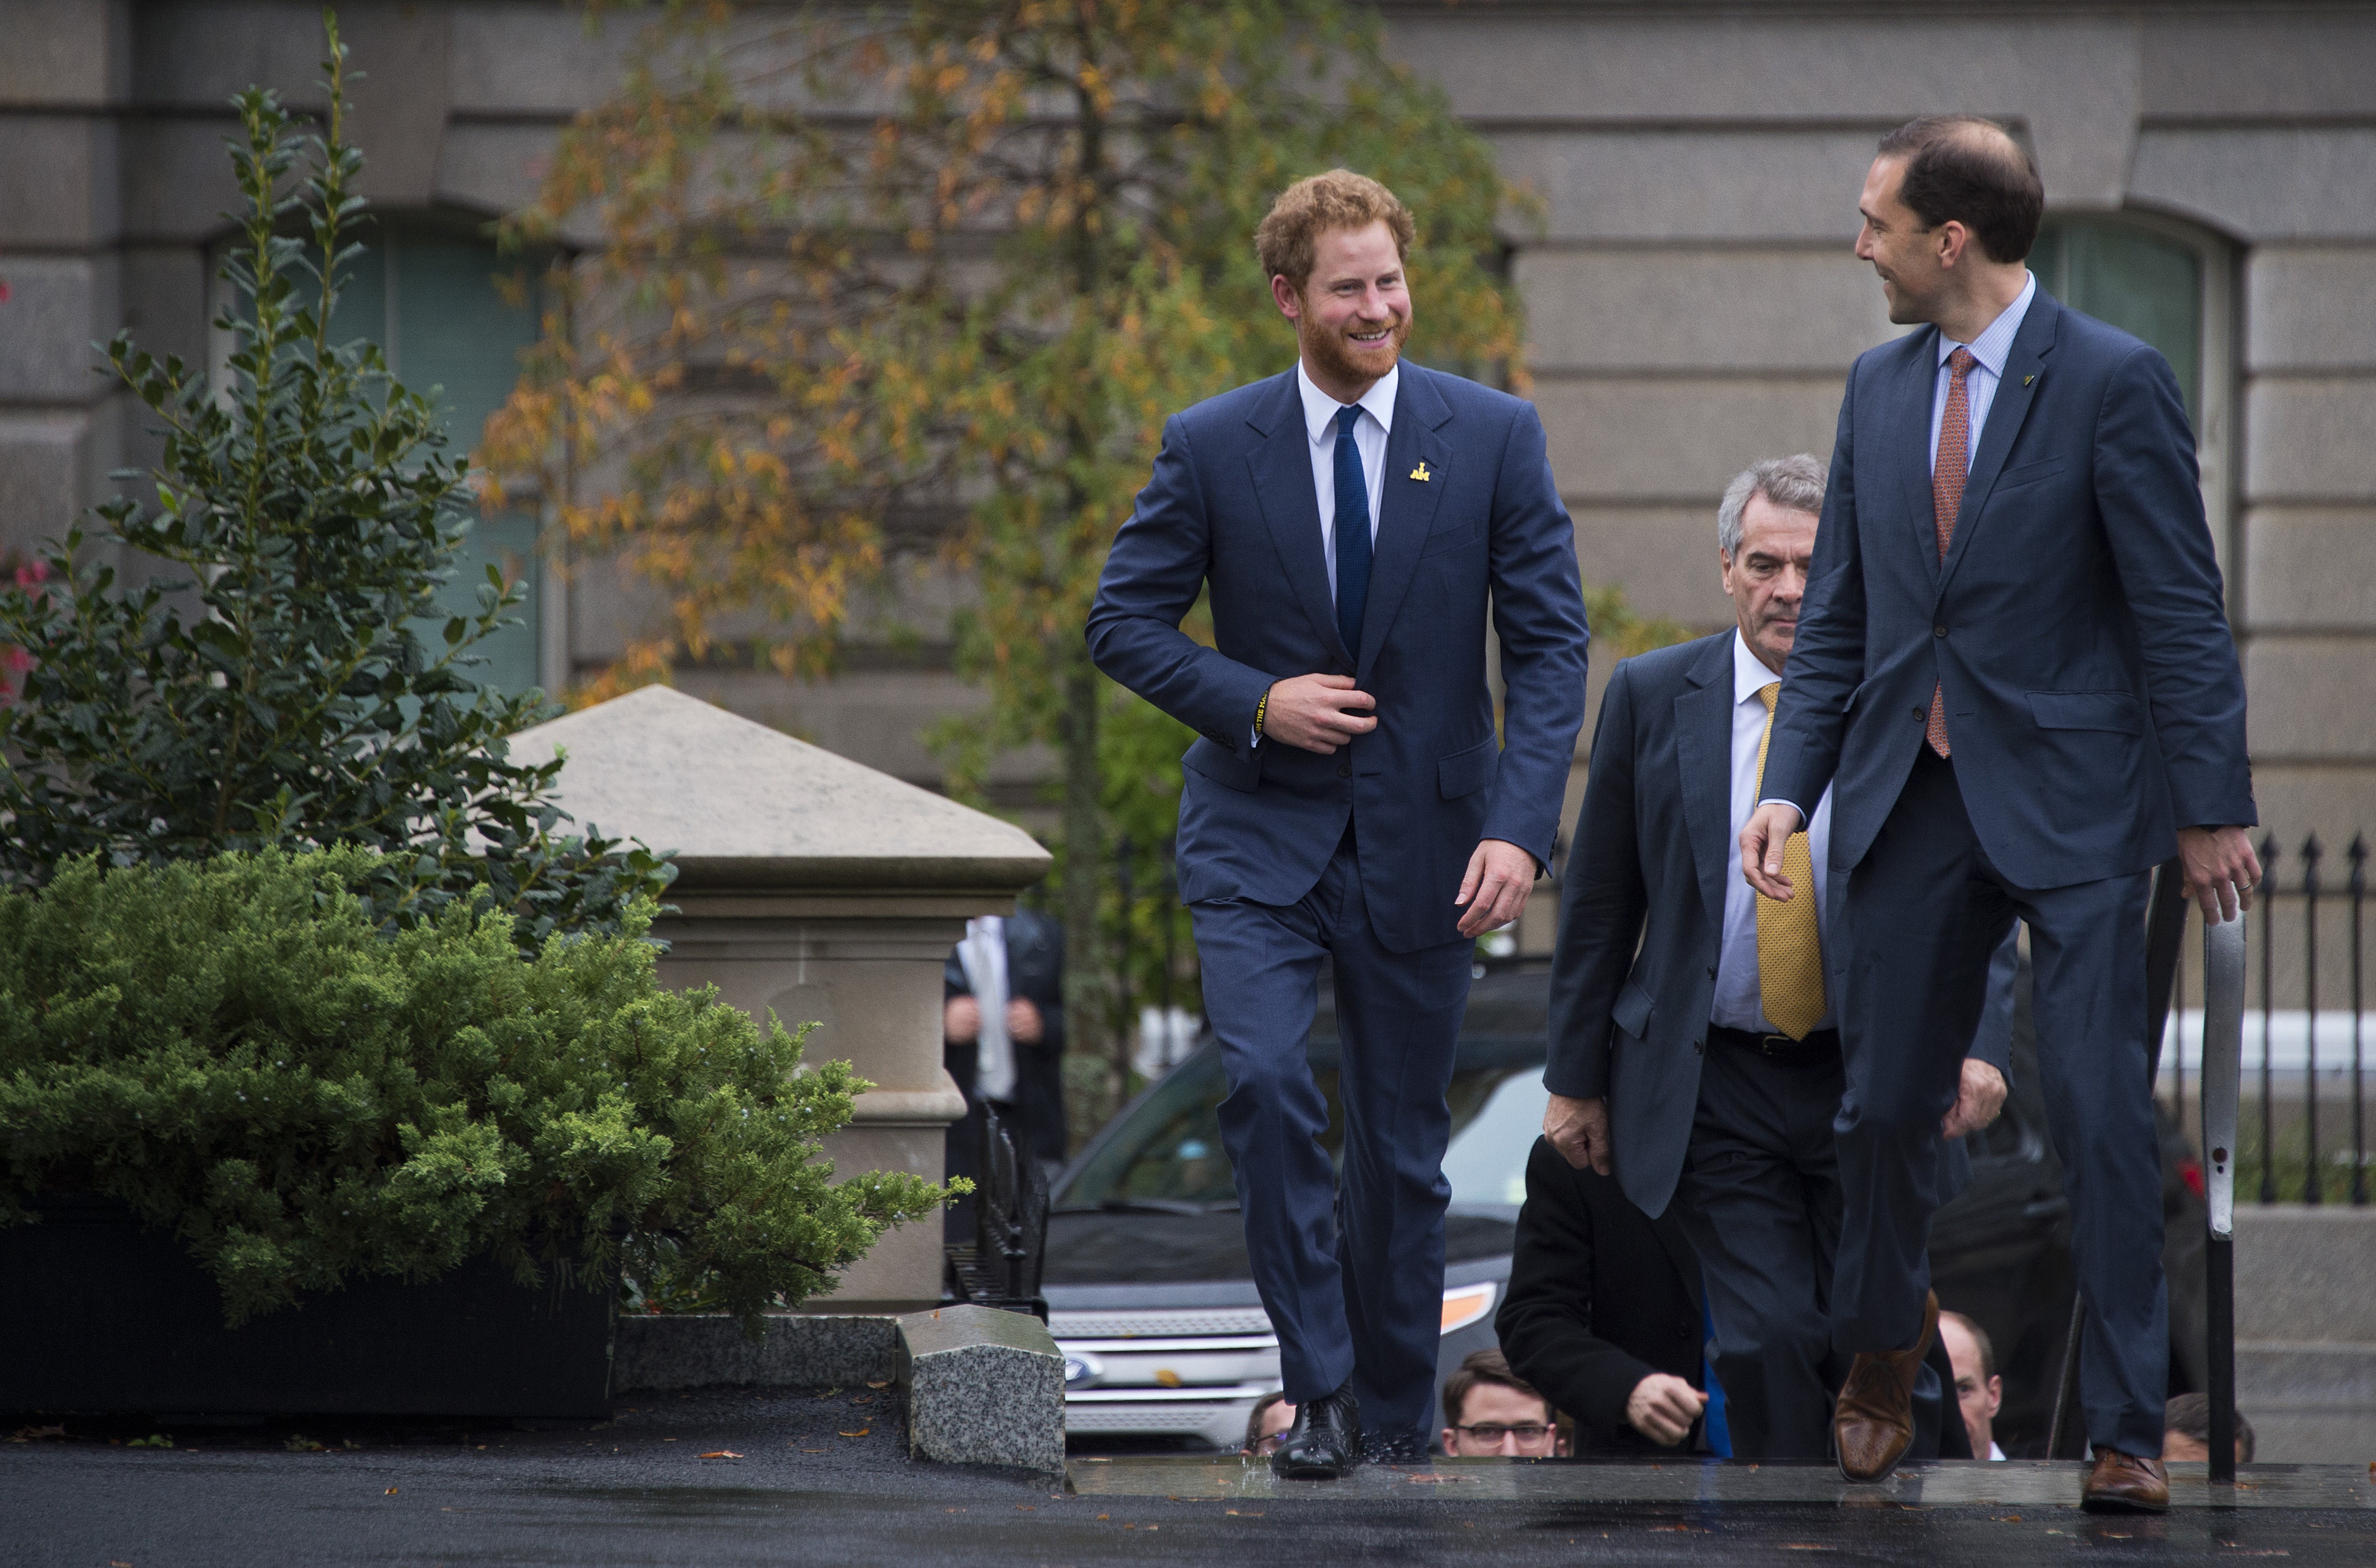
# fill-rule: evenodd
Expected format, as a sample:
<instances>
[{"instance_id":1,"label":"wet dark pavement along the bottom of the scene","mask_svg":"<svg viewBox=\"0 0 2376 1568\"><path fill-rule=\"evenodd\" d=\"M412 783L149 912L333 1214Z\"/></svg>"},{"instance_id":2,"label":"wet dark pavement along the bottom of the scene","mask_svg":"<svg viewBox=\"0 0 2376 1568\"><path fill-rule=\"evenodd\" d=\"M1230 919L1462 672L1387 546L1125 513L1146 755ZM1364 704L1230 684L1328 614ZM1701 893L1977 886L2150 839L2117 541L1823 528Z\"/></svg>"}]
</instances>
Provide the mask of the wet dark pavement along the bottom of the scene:
<instances>
[{"instance_id":1,"label":"wet dark pavement along the bottom of the scene","mask_svg":"<svg viewBox=\"0 0 2376 1568\"><path fill-rule=\"evenodd\" d=\"M853 1404L865 1399L865 1404ZM62 1425L62 1433L43 1433ZM159 1428L159 1430L147 1430ZM912 1463L891 1390L653 1397L611 1423L7 1418L0 1563L2376 1563L2364 1466L2255 1466L2236 1506L2079 1513L2077 1466L1452 1461L1271 1482L1233 1459ZM173 1447L131 1447L150 1435ZM2193 1501L2195 1506L2186 1506Z\"/></svg>"}]
</instances>

